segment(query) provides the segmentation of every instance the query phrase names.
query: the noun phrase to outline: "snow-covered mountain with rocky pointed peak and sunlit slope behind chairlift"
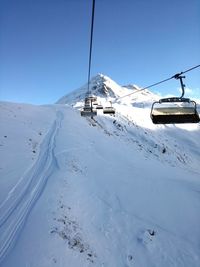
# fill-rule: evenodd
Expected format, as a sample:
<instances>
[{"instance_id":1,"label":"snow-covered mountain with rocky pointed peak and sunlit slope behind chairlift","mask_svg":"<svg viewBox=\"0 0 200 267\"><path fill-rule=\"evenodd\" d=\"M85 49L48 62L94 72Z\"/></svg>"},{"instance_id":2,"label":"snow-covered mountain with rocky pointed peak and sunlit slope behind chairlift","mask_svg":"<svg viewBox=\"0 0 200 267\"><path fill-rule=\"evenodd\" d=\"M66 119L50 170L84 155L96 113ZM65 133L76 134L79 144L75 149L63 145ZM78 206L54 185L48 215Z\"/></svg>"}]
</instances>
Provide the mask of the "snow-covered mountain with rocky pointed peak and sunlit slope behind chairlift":
<instances>
[{"instance_id":1,"label":"snow-covered mountain with rocky pointed peak and sunlit slope behind chairlift","mask_svg":"<svg viewBox=\"0 0 200 267\"><path fill-rule=\"evenodd\" d=\"M184 164L190 161L190 165L194 163L197 166L200 161L198 152L200 149L200 143L198 142L200 125L154 125L150 119L151 106L154 101L159 99L159 96L148 90L139 92L138 90L140 88L136 85L120 86L103 74L96 75L90 82L90 92L97 96L99 103L108 106L110 105L109 101L112 102L116 109L116 123L114 126L117 124L121 126L123 136L126 136L127 139L135 137L137 139L136 142L144 150L151 151L158 159L158 150L161 151L166 147L166 153L173 155L174 160L178 159ZM87 85L62 97L57 103L70 104L80 110L86 93ZM98 111L98 116L95 120L104 125L105 118L108 118L108 116L106 117L102 114L102 111ZM190 140L187 140L188 130L192 131L191 136L193 138ZM178 139L185 140L184 149L186 151L182 147L183 143L181 143L181 146L178 145ZM195 157L193 152L190 153L191 149L193 152L194 150L196 151ZM165 160L170 161L166 158Z\"/></svg>"}]
</instances>

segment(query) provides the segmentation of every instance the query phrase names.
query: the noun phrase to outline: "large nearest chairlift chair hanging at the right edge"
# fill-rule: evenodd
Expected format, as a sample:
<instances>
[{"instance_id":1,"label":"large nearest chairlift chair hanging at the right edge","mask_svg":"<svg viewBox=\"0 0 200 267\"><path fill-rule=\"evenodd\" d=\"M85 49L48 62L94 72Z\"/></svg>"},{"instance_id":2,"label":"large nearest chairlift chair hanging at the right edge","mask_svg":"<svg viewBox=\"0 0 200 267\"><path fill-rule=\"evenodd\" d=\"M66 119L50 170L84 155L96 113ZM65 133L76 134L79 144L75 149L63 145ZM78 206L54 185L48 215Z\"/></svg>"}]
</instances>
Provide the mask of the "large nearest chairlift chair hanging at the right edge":
<instances>
[{"instance_id":1,"label":"large nearest chairlift chair hanging at the right edge","mask_svg":"<svg viewBox=\"0 0 200 267\"><path fill-rule=\"evenodd\" d=\"M182 95L180 97L163 98L153 103L150 117L154 124L172 123L198 123L200 121L196 102L189 98L183 98L184 87L182 79L185 76L176 74L180 79Z\"/></svg>"}]
</instances>

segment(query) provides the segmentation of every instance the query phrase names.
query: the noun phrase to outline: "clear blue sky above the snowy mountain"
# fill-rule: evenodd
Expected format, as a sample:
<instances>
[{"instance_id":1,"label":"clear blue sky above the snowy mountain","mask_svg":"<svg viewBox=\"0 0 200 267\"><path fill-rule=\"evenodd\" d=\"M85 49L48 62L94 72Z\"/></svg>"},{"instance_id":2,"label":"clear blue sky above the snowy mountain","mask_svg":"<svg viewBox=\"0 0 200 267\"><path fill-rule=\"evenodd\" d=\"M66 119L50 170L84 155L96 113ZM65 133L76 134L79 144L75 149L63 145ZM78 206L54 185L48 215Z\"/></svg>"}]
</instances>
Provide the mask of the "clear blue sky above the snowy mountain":
<instances>
[{"instance_id":1,"label":"clear blue sky above the snowy mountain","mask_svg":"<svg viewBox=\"0 0 200 267\"><path fill-rule=\"evenodd\" d=\"M1 100L54 103L87 82L91 8L92 0L0 0ZM200 64L200 1L96 0L93 45L91 76L141 87L168 78ZM200 98L200 68L185 83Z\"/></svg>"}]
</instances>

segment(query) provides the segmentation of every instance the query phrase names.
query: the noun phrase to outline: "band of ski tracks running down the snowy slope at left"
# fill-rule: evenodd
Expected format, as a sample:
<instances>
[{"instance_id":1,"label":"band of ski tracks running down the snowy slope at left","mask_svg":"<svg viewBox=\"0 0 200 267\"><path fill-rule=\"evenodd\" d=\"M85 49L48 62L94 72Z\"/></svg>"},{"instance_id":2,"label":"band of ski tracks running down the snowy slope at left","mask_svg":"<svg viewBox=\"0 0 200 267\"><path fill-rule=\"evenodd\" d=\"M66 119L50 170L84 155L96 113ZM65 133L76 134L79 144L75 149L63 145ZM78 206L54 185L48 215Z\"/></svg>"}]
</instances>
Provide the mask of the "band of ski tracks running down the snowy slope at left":
<instances>
[{"instance_id":1,"label":"band of ski tracks running down the snowy slope at left","mask_svg":"<svg viewBox=\"0 0 200 267\"><path fill-rule=\"evenodd\" d=\"M0 262L17 240L28 214L45 188L52 171L57 168L55 140L63 114L57 118L40 146L35 164L20 178L0 206Z\"/></svg>"}]
</instances>

